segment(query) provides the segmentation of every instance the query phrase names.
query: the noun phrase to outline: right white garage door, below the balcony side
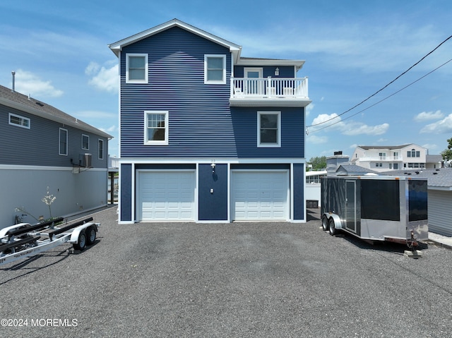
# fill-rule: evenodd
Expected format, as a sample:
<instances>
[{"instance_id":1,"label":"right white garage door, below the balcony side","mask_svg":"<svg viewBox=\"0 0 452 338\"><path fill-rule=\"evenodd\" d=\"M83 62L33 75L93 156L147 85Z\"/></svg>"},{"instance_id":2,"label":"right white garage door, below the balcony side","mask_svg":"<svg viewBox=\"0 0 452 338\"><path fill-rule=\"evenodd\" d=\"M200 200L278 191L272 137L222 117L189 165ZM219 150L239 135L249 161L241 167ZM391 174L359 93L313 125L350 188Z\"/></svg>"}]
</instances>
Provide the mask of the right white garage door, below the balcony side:
<instances>
[{"instance_id":1,"label":"right white garage door, below the balcony side","mask_svg":"<svg viewBox=\"0 0 452 338\"><path fill-rule=\"evenodd\" d=\"M288 219L287 171L232 171L232 220Z\"/></svg>"}]
</instances>

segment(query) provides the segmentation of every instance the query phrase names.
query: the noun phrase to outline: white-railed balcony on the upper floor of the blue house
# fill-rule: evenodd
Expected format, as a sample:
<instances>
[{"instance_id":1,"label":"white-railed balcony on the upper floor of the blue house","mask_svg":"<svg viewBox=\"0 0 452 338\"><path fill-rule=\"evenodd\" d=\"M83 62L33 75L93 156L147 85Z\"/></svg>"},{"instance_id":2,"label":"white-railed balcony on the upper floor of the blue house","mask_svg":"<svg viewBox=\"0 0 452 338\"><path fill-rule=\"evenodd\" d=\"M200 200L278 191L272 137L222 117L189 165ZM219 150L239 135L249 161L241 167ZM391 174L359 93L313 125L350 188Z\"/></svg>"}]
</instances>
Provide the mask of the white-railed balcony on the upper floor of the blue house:
<instances>
[{"instance_id":1,"label":"white-railed balcony on the upper floor of the blue house","mask_svg":"<svg viewBox=\"0 0 452 338\"><path fill-rule=\"evenodd\" d=\"M231 107L306 107L308 78L231 78Z\"/></svg>"}]
</instances>

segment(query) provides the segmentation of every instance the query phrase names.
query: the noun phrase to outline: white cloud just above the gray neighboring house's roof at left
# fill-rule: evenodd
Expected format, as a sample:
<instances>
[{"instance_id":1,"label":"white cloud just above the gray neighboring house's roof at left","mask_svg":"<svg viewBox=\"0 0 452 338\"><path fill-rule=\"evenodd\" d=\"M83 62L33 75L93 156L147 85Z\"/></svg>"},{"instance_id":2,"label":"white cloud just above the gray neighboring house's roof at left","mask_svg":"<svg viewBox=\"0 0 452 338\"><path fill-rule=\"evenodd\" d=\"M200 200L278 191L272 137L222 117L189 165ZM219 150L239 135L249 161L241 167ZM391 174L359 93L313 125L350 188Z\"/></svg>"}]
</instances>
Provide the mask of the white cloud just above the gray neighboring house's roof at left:
<instances>
[{"instance_id":1,"label":"white cloud just above the gray neighboring house's roof at left","mask_svg":"<svg viewBox=\"0 0 452 338\"><path fill-rule=\"evenodd\" d=\"M15 89L32 97L60 97L62 90L55 88L50 81L41 80L37 75L29 71L18 69L15 77Z\"/></svg>"}]
</instances>

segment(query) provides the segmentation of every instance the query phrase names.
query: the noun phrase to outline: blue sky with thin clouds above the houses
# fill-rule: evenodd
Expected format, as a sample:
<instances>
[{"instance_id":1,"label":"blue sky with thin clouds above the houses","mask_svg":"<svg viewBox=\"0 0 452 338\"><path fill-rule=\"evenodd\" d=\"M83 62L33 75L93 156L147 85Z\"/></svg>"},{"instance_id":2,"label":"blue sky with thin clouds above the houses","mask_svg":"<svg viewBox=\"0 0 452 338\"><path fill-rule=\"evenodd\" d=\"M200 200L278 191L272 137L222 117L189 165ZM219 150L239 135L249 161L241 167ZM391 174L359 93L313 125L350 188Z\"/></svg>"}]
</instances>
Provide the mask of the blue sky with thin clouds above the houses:
<instances>
[{"instance_id":1,"label":"blue sky with thin clouds above the houses","mask_svg":"<svg viewBox=\"0 0 452 338\"><path fill-rule=\"evenodd\" d=\"M241 45L242 56L306 60L308 126L362 102L452 35L449 0L2 0L0 85L11 87L16 71L16 90L114 135L117 155L117 58L107 45L172 18ZM307 159L405 143L439 154L452 137L452 61L441 66L451 58L452 39L333 126L309 127Z\"/></svg>"}]
</instances>

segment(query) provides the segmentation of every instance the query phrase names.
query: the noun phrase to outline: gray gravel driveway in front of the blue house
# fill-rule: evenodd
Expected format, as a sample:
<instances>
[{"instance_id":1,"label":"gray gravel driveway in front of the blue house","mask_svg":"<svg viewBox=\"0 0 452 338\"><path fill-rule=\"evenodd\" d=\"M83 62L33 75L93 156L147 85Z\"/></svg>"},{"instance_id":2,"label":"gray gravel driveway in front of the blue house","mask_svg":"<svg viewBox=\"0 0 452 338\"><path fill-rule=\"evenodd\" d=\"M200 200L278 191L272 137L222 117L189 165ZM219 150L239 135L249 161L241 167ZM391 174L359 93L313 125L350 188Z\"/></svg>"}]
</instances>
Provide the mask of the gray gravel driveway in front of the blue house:
<instances>
[{"instance_id":1,"label":"gray gravel driveway in front of the blue house","mask_svg":"<svg viewBox=\"0 0 452 338\"><path fill-rule=\"evenodd\" d=\"M311 218L318 215L311 214ZM452 251L307 224L117 224L0 267L0 337L451 337ZM48 320L48 321L47 321ZM11 324L19 324L18 321Z\"/></svg>"}]
</instances>

